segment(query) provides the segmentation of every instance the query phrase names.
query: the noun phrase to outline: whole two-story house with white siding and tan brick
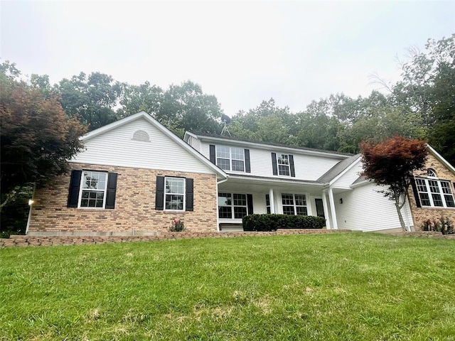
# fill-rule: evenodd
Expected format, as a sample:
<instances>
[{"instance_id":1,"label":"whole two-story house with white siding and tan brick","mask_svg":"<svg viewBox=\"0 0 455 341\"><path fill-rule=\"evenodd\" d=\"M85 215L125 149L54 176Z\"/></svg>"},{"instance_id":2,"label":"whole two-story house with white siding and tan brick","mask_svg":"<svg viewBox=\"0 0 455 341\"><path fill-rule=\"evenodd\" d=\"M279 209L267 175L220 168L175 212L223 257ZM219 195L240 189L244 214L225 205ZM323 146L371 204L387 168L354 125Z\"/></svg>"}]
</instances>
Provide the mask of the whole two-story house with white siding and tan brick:
<instances>
[{"instance_id":1,"label":"whole two-story house with white siding and tan brick","mask_svg":"<svg viewBox=\"0 0 455 341\"><path fill-rule=\"evenodd\" d=\"M145 112L82 136L71 173L36 188L28 234L150 234L241 229L253 213L317 215L328 229L400 231L392 201L363 178L360 155L186 132ZM402 209L407 229L455 221L455 169L429 148ZM411 205L410 205L411 203Z\"/></svg>"}]
</instances>

